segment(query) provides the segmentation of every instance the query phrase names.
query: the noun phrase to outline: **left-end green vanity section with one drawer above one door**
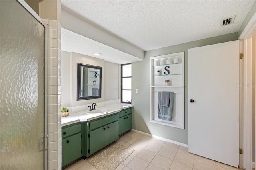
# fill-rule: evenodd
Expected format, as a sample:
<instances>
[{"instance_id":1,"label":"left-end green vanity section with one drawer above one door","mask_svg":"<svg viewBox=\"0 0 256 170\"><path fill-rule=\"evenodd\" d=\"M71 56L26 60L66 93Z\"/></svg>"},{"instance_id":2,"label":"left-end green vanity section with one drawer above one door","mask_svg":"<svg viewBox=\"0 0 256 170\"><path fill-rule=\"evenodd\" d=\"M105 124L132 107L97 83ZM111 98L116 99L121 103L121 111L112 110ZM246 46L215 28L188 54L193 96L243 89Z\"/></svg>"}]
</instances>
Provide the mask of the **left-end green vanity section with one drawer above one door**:
<instances>
[{"instance_id":1,"label":"left-end green vanity section with one drawer above one door","mask_svg":"<svg viewBox=\"0 0 256 170\"><path fill-rule=\"evenodd\" d=\"M62 127L62 167L82 157L82 125Z\"/></svg>"}]
</instances>

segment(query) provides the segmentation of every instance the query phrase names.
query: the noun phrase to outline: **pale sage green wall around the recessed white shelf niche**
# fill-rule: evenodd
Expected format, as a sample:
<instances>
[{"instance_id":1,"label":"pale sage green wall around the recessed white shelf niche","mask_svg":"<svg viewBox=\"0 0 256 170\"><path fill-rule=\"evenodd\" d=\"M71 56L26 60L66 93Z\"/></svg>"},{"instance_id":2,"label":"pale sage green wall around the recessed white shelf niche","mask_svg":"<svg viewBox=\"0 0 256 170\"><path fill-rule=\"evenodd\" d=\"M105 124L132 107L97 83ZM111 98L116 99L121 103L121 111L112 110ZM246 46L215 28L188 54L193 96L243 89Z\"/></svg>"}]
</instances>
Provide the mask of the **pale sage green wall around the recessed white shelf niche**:
<instances>
[{"instance_id":1,"label":"pale sage green wall around the recessed white shelf niche","mask_svg":"<svg viewBox=\"0 0 256 170\"><path fill-rule=\"evenodd\" d=\"M144 52L144 60L132 63L133 129L188 144L188 49L234 41L238 32ZM150 123L150 57L184 51L185 129ZM139 93L136 94L136 89Z\"/></svg>"}]
</instances>

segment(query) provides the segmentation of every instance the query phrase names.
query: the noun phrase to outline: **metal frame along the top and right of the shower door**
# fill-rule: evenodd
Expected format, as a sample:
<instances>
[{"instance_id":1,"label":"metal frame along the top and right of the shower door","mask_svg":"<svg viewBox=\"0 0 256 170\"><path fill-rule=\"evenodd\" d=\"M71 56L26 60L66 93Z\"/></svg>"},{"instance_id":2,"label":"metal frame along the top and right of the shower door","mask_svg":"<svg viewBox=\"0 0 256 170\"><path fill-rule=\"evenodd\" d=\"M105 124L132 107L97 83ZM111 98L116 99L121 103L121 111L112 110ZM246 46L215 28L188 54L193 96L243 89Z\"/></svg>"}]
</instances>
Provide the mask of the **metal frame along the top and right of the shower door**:
<instances>
[{"instance_id":1,"label":"metal frame along the top and right of the shower door","mask_svg":"<svg viewBox=\"0 0 256 170\"><path fill-rule=\"evenodd\" d=\"M48 24L44 22L42 18L36 12L24 1L24 0L16 0L25 10L27 10L39 23L41 23L44 26L44 170L49 169L49 135L48 135L48 129L49 129L49 101L48 101L48 92L49 92L49 28Z\"/></svg>"}]
</instances>

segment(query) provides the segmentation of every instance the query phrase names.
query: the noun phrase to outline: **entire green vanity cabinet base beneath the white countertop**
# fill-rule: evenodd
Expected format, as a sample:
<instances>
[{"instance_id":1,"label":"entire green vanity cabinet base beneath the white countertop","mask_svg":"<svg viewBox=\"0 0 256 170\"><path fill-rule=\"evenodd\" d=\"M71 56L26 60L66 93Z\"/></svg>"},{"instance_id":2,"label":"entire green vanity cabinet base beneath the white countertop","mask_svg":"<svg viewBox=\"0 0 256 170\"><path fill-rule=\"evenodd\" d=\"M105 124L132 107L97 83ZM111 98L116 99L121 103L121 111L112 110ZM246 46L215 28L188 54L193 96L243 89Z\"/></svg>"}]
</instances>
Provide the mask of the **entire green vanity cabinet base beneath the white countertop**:
<instances>
[{"instance_id":1,"label":"entire green vanity cabinet base beneath the white countertop","mask_svg":"<svg viewBox=\"0 0 256 170\"><path fill-rule=\"evenodd\" d=\"M62 168L89 157L132 129L132 107L91 121L62 127Z\"/></svg>"}]
</instances>

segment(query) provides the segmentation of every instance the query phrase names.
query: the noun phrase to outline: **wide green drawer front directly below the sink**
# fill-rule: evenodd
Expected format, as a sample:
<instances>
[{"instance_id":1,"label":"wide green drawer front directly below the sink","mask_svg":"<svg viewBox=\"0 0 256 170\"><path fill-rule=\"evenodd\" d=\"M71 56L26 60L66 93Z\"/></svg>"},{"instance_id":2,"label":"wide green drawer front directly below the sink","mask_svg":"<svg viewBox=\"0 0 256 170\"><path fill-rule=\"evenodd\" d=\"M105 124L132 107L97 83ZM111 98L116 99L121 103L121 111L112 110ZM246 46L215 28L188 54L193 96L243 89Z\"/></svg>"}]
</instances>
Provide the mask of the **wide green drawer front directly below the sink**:
<instances>
[{"instance_id":1,"label":"wide green drawer front directly below the sink","mask_svg":"<svg viewBox=\"0 0 256 170\"><path fill-rule=\"evenodd\" d=\"M119 119L119 115L116 114L116 115L105 117L105 118L102 118L102 119L99 119L99 120L96 120L96 121L92 121L92 122L89 123L89 129L90 130L96 129L98 127L107 125L107 124L112 123L114 121L118 121L118 119Z\"/></svg>"}]
</instances>

